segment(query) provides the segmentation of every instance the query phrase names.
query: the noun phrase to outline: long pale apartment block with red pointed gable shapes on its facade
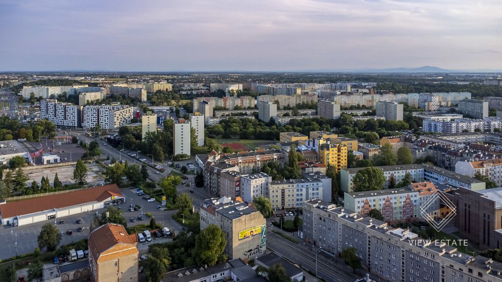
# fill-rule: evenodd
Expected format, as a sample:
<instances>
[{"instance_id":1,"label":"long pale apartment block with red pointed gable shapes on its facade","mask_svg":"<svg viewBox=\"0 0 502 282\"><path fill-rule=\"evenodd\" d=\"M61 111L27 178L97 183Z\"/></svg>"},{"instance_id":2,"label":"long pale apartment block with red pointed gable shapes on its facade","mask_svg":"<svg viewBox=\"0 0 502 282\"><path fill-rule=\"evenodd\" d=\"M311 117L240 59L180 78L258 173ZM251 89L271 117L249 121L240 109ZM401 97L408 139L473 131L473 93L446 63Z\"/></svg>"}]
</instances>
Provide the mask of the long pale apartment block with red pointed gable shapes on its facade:
<instances>
[{"instance_id":1,"label":"long pale apartment block with red pointed gable shapes on its facade","mask_svg":"<svg viewBox=\"0 0 502 282\"><path fill-rule=\"evenodd\" d=\"M369 211L378 209L386 222L407 222L424 220L420 207L436 193L432 182L413 183L409 187L344 193L344 207L361 216L368 216ZM439 198L427 207L432 218L438 218Z\"/></svg>"}]
</instances>

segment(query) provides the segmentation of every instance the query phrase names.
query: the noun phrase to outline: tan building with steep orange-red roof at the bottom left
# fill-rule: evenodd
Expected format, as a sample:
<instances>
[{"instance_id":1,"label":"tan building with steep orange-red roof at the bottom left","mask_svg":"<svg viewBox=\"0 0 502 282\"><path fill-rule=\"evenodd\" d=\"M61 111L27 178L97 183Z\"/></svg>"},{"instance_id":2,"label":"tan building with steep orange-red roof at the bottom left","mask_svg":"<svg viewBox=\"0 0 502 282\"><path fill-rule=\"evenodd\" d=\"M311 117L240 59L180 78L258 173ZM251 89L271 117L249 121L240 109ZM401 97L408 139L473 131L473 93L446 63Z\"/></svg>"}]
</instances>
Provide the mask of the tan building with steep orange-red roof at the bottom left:
<instances>
[{"instance_id":1,"label":"tan building with steep orange-red roof at the bottom left","mask_svg":"<svg viewBox=\"0 0 502 282\"><path fill-rule=\"evenodd\" d=\"M99 226L90 233L88 244L93 281L138 281L140 252L122 225Z\"/></svg>"}]
</instances>

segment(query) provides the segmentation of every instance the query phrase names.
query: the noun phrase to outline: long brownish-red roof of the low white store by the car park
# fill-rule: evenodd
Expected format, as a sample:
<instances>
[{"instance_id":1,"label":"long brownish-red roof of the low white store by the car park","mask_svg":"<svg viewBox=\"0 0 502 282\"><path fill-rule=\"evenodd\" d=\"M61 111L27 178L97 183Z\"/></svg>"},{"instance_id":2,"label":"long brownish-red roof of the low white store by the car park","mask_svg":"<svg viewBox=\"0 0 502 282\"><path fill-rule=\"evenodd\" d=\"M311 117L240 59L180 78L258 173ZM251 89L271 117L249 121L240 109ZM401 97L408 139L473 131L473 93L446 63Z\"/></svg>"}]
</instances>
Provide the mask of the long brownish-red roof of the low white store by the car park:
<instances>
[{"instance_id":1,"label":"long brownish-red roof of the low white store by the car park","mask_svg":"<svg viewBox=\"0 0 502 282\"><path fill-rule=\"evenodd\" d=\"M111 196L124 197L117 185L111 184L3 204L0 205L0 215L2 218L9 218L84 203L101 202Z\"/></svg>"}]
</instances>

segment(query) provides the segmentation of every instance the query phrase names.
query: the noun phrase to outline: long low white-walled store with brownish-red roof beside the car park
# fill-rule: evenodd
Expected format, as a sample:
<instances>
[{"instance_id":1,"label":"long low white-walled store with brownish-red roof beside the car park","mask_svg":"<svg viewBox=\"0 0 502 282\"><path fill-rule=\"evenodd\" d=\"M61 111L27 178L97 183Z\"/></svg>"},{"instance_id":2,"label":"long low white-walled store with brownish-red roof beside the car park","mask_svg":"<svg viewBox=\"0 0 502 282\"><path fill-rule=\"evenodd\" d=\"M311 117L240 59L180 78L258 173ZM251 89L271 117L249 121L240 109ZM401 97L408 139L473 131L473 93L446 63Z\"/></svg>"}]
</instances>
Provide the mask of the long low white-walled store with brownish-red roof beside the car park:
<instances>
[{"instance_id":1,"label":"long low white-walled store with brownish-red roof beside the car park","mask_svg":"<svg viewBox=\"0 0 502 282\"><path fill-rule=\"evenodd\" d=\"M2 225L27 225L89 212L125 201L116 184L0 204Z\"/></svg>"}]
</instances>

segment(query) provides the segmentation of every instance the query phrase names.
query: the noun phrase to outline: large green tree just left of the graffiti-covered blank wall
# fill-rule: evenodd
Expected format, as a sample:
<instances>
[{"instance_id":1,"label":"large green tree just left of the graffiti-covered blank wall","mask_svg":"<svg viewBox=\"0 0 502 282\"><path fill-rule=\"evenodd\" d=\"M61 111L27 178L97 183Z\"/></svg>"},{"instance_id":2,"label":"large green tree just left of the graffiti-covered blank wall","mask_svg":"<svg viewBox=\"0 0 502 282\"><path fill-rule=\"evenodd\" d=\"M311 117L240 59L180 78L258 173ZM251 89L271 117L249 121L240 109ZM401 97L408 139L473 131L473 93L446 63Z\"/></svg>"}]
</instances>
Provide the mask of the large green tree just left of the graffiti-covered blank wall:
<instances>
[{"instance_id":1,"label":"large green tree just left of the graffiti-covered blank wall","mask_svg":"<svg viewBox=\"0 0 502 282\"><path fill-rule=\"evenodd\" d=\"M226 246L225 234L221 229L210 224L202 229L195 237L195 248L193 257L199 266L213 266L218 261L226 261L226 255L223 253Z\"/></svg>"}]
</instances>

